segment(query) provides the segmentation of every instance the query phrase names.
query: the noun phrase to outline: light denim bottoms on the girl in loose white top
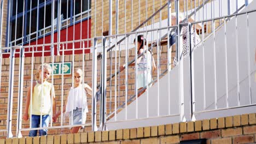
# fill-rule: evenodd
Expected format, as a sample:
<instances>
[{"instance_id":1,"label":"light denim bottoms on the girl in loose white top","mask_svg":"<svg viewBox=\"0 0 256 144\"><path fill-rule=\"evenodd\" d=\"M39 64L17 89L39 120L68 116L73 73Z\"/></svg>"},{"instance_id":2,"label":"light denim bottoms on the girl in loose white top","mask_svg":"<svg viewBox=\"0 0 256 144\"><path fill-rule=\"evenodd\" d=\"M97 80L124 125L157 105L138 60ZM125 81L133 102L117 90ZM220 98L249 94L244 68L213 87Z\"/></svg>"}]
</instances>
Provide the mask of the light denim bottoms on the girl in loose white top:
<instances>
[{"instance_id":1,"label":"light denim bottoms on the girl in loose white top","mask_svg":"<svg viewBox=\"0 0 256 144\"><path fill-rule=\"evenodd\" d=\"M82 109L81 108L77 108L76 110L73 110L73 124L85 124L86 121L86 112L85 109L83 109L83 113L82 113ZM82 114L84 115L82 117ZM69 112L69 125L72 125L72 112ZM81 126L82 129L84 128L84 126Z\"/></svg>"}]
</instances>

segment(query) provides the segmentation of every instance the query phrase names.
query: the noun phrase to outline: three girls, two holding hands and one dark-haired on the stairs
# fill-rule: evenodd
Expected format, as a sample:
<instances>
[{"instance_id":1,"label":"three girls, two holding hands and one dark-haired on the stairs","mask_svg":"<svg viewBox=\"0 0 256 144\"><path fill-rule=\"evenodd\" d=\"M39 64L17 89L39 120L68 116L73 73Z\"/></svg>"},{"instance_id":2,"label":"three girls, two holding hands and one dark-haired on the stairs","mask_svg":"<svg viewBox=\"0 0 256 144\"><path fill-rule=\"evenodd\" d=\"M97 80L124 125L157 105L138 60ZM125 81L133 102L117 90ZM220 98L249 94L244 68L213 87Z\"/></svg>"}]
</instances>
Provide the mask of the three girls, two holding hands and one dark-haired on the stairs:
<instances>
[{"instance_id":1,"label":"three girls, two holding hands and one dark-haired on the stairs","mask_svg":"<svg viewBox=\"0 0 256 144\"><path fill-rule=\"evenodd\" d=\"M143 35L137 36L133 41L137 42L137 54L144 53L147 49L146 38ZM132 63L129 66L135 65ZM138 65L138 90L146 87L146 85L152 81L152 71L156 69L154 58L150 51L146 51L142 57L137 59ZM125 65L120 66L120 71L124 70ZM73 79L74 83L66 97L66 105L63 106L63 111L56 112L55 105L55 92L52 83L47 80L51 75L52 69L49 64L39 65L36 73L36 81L33 81L31 86L27 89L27 98L25 105L25 112L22 117L24 121L28 120L31 116L31 128L48 127L50 119L56 122L61 113L67 114L69 117L69 125L79 125L70 129L71 133L78 133L80 129L83 129L83 125L86 121L86 113L88 112L87 95L92 95L92 89L89 85L83 82L84 72L80 68L74 69ZM31 92L32 91L32 92ZM144 89L146 91L146 89ZM144 91L139 92L138 96ZM31 95L32 94L32 95ZM32 102L32 105L30 105ZM30 107L31 106L31 107ZM42 116L42 117L41 117ZM40 121L42 119L42 121ZM38 130L31 130L29 136L37 136ZM40 129L39 135L47 135L47 129Z\"/></svg>"}]
</instances>

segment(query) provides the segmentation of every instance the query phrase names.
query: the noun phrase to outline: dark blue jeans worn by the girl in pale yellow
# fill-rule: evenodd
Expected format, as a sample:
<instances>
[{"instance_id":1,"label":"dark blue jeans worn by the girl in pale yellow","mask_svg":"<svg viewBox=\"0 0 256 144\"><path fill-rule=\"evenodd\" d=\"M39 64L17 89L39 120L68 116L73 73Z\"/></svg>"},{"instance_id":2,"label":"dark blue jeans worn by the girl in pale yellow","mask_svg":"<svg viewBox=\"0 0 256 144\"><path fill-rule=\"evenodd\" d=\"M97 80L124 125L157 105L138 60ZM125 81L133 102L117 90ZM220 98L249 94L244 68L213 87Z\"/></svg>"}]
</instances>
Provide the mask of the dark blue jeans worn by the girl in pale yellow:
<instances>
[{"instance_id":1,"label":"dark blue jeans worn by the girl in pale yellow","mask_svg":"<svg viewBox=\"0 0 256 144\"><path fill-rule=\"evenodd\" d=\"M39 128L40 127L40 115L32 115L31 118L31 128ZM50 116L44 115L42 116L42 128L48 127L50 122ZM48 129L39 129L39 136L47 135ZM30 134L28 136L37 136L37 130L30 130Z\"/></svg>"}]
</instances>

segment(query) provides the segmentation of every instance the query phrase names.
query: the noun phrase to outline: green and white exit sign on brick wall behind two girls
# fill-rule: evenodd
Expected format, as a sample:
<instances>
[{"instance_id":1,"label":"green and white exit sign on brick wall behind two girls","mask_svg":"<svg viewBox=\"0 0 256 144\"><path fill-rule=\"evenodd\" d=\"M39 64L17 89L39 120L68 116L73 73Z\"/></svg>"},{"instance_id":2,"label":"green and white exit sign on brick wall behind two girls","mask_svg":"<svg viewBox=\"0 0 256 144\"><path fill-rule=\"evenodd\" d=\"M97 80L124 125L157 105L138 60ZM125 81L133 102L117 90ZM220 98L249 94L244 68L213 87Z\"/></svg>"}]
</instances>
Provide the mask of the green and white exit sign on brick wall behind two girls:
<instances>
[{"instance_id":1,"label":"green and white exit sign on brick wall behind two girls","mask_svg":"<svg viewBox=\"0 0 256 144\"><path fill-rule=\"evenodd\" d=\"M51 68L53 69L54 75L62 75L62 63L54 63L54 66L50 63ZM72 63L64 62L63 63L63 74L70 75L71 74Z\"/></svg>"}]
</instances>

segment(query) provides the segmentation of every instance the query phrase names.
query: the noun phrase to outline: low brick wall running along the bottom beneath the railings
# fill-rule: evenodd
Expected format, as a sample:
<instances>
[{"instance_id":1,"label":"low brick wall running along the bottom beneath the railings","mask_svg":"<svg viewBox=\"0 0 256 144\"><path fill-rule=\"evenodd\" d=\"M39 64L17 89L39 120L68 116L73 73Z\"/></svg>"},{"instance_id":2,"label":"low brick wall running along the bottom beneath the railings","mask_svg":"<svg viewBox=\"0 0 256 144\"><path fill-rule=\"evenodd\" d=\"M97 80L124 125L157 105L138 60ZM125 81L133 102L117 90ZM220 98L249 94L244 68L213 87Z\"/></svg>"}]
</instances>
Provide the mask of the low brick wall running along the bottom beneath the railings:
<instances>
[{"instance_id":1,"label":"low brick wall running along the bottom beneath the railings","mask_svg":"<svg viewBox=\"0 0 256 144\"><path fill-rule=\"evenodd\" d=\"M206 139L206 143L256 143L255 113L154 127L95 131L78 134L0 139L1 143L179 143Z\"/></svg>"}]
</instances>

